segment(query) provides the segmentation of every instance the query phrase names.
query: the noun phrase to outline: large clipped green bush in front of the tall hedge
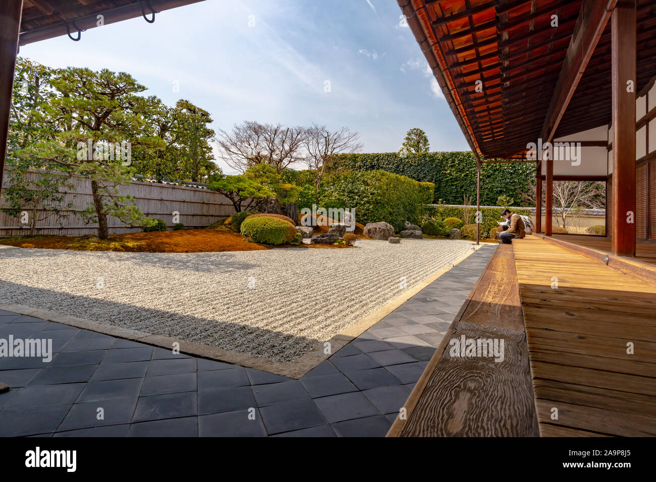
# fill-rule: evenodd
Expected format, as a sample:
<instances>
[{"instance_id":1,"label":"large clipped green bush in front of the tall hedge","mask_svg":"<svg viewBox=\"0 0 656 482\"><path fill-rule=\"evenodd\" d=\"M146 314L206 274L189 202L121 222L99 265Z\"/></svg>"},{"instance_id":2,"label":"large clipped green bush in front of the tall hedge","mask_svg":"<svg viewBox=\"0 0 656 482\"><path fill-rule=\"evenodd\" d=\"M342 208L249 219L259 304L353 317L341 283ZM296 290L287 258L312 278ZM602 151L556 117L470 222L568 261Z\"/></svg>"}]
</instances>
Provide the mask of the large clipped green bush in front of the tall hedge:
<instances>
[{"instance_id":1,"label":"large clipped green bush in front of the tall hedge","mask_svg":"<svg viewBox=\"0 0 656 482\"><path fill-rule=\"evenodd\" d=\"M358 223L390 223L396 231L404 229L405 221L419 224L424 212L424 198L430 186L405 176L385 171L333 172L323 178L319 208L354 208ZM298 209L312 208L312 200Z\"/></svg>"}]
</instances>

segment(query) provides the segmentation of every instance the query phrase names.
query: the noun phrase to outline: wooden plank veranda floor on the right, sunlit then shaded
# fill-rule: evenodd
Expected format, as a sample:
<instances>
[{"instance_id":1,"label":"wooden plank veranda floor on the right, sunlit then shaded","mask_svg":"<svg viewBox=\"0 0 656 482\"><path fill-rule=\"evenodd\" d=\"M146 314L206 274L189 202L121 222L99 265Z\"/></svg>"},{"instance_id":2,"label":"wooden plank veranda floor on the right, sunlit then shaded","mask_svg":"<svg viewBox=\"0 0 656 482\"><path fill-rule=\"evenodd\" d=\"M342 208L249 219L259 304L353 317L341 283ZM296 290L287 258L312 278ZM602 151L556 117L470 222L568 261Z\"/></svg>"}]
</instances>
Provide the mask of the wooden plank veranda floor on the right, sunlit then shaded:
<instances>
[{"instance_id":1,"label":"wooden plank veranda floor on the right, sunlit then shaded","mask_svg":"<svg viewBox=\"0 0 656 482\"><path fill-rule=\"evenodd\" d=\"M655 435L656 286L535 236L513 246L541 436Z\"/></svg>"}]
</instances>

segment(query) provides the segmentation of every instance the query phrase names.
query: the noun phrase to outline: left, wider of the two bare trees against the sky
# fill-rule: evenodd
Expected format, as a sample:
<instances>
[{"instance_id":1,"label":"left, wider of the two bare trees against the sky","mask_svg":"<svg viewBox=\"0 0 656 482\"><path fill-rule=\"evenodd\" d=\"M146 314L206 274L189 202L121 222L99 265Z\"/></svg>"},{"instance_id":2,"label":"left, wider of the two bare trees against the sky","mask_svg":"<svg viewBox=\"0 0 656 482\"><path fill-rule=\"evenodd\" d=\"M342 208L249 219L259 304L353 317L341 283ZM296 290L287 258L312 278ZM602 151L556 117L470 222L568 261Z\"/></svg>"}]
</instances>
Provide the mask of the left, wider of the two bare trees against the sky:
<instances>
[{"instance_id":1,"label":"left, wider of the two bare trees against the sky","mask_svg":"<svg viewBox=\"0 0 656 482\"><path fill-rule=\"evenodd\" d=\"M305 139L305 128L282 124L262 124L245 121L235 124L231 132L219 130L215 138L218 155L239 172L264 162L276 172L282 172L293 162L302 159L300 150Z\"/></svg>"}]
</instances>

